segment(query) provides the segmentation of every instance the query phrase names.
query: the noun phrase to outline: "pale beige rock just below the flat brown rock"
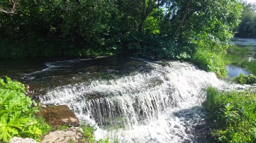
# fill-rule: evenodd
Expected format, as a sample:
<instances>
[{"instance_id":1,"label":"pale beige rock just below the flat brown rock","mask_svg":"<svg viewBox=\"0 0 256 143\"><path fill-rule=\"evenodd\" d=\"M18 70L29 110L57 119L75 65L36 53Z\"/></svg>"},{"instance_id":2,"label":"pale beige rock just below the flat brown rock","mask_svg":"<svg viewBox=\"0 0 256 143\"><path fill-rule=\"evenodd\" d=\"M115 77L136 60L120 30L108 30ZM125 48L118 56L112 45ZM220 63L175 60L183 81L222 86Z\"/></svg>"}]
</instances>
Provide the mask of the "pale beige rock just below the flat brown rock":
<instances>
[{"instance_id":1,"label":"pale beige rock just below the flat brown rock","mask_svg":"<svg viewBox=\"0 0 256 143\"><path fill-rule=\"evenodd\" d=\"M41 143L77 143L82 137L83 130L79 127L63 131L54 131L44 137Z\"/></svg>"}]
</instances>

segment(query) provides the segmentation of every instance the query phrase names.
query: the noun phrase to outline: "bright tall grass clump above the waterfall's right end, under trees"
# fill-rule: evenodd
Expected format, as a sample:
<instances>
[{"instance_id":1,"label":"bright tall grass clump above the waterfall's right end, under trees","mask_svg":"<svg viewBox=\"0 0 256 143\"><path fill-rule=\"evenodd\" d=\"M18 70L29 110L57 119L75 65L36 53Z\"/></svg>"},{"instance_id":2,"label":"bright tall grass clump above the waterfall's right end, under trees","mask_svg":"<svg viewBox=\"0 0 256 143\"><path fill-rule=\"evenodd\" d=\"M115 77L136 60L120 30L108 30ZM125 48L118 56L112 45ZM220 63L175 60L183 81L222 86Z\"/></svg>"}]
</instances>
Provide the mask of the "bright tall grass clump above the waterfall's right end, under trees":
<instances>
[{"instance_id":1,"label":"bright tall grass clump above the waterfall's right end, under trees","mask_svg":"<svg viewBox=\"0 0 256 143\"><path fill-rule=\"evenodd\" d=\"M221 53L198 50L192 60L201 69L207 72L215 72L218 77L227 77L226 63Z\"/></svg>"}]
</instances>

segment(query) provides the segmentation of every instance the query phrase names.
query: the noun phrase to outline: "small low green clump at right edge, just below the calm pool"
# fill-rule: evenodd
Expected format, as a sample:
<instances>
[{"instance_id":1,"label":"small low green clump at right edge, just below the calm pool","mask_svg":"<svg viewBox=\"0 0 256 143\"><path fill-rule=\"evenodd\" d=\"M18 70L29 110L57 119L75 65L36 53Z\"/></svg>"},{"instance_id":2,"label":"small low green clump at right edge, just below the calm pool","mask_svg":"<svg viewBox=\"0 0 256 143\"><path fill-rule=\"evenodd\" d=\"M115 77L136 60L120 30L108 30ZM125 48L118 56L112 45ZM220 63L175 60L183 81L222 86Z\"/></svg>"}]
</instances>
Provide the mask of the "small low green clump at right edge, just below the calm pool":
<instances>
[{"instance_id":1,"label":"small low green clump at right edge, just below the calm pool","mask_svg":"<svg viewBox=\"0 0 256 143\"><path fill-rule=\"evenodd\" d=\"M256 83L256 75L250 74L250 75L244 75L239 74L239 76L236 76L233 78L236 83L240 84L255 84Z\"/></svg>"}]
</instances>

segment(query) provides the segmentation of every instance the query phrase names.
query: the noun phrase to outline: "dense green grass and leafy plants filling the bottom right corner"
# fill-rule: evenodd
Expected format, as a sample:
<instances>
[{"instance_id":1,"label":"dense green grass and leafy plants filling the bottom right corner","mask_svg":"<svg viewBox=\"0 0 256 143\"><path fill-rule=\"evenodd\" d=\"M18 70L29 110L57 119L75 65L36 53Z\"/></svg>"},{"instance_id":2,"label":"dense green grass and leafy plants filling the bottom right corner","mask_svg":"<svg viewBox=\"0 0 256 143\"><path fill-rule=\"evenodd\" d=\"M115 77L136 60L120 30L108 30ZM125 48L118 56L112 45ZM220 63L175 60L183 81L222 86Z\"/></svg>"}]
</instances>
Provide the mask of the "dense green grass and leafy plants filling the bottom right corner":
<instances>
[{"instance_id":1,"label":"dense green grass and leafy plants filling the bottom right corner","mask_svg":"<svg viewBox=\"0 0 256 143\"><path fill-rule=\"evenodd\" d=\"M214 97L214 101L209 101L210 109L206 106L212 136L221 143L255 143L256 94L249 91L219 92L212 87L206 91L207 96Z\"/></svg>"}]
</instances>

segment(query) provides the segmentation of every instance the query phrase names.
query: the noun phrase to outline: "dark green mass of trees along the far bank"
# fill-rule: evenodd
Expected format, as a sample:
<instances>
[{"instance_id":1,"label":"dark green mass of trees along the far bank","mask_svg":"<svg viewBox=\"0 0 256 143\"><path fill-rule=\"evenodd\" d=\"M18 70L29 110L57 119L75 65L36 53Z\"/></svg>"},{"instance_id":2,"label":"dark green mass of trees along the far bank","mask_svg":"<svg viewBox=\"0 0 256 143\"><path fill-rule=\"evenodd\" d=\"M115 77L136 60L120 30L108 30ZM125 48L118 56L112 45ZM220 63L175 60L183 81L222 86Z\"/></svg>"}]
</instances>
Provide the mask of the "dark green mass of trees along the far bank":
<instances>
[{"instance_id":1,"label":"dark green mass of trees along the far bank","mask_svg":"<svg viewBox=\"0 0 256 143\"><path fill-rule=\"evenodd\" d=\"M0 58L186 59L199 48L225 49L241 12L238 0L19 0L16 14L0 13Z\"/></svg>"}]
</instances>

